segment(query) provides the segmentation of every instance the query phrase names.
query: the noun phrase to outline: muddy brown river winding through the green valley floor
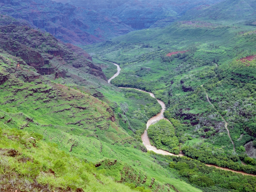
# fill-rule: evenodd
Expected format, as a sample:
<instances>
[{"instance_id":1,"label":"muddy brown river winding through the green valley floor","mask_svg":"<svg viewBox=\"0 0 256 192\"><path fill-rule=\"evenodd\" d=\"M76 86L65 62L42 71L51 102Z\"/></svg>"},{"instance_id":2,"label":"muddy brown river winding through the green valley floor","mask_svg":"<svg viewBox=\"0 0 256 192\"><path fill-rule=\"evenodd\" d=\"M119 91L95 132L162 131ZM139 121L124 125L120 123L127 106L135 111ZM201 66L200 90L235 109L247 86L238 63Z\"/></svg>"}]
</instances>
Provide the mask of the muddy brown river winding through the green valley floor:
<instances>
[{"instance_id":1,"label":"muddy brown river winding through the green valley floor","mask_svg":"<svg viewBox=\"0 0 256 192\"><path fill-rule=\"evenodd\" d=\"M112 76L110 79L108 79L108 83L110 83L110 81L111 81L112 79L114 79L116 76L118 76L119 73L120 73L120 71L121 71L121 68L119 67L118 64L116 64L116 63L113 63L113 64L117 66L117 73L115 73L114 76ZM136 88L129 88L129 87L119 87L119 88L123 88L123 89L124 89L124 88L125 88L125 89L136 89ZM140 90L140 89L136 89L136 90L142 91L142 92L146 92L146 91L143 91L143 90ZM151 97L156 98L153 93L151 93L151 92L146 92L146 93L149 93ZM208 98L207 98L207 99L208 99ZM157 153L157 154L172 155L172 156L184 156L183 154L175 155L175 154L170 153L170 152L168 152L168 151L164 151L164 150L162 150L162 149L157 149L155 146L152 146L152 145L150 144L150 141L149 141L149 138L148 138L148 132L147 132L148 127L149 127L151 124L153 124L153 123L159 121L160 119L165 119L165 120L169 121L168 119L166 119L166 118L164 117L164 110L165 110L165 104L164 104L164 102L161 101L161 100L158 100L158 99L156 99L156 100L157 100L157 102L161 105L162 109L161 109L161 112L160 112L160 113L158 113L157 115L151 117L151 118L148 120L148 122L147 122L147 128L146 128L146 130L144 131L144 133L141 135L141 140L142 140L142 142L143 142L143 145L147 148L148 151L154 151L154 152ZM226 121L225 121L225 122L226 122ZM170 122L170 123L171 123L171 122ZM226 170L226 171L231 171L231 172L235 172L235 173L241 173L241 174L243 174L243 175L256 176L256 175L248 174L248 173L245 173L245 172L242 172L242 171L235 171L235 170L232 170L232 169L219 167L219 166L217 166L217 165L210 165L210 164L205 164L205 165L208 166L208 167L211 167L211 166L212 166L212 167L215 167L215 168L218 168L218 169L222 169L222 170Z\"/></svg>"}]
</instances>

